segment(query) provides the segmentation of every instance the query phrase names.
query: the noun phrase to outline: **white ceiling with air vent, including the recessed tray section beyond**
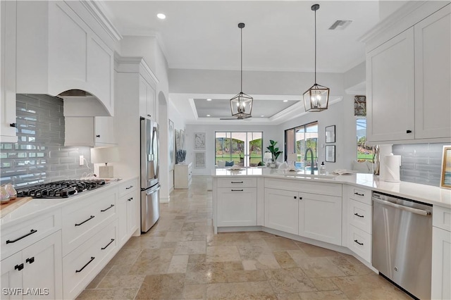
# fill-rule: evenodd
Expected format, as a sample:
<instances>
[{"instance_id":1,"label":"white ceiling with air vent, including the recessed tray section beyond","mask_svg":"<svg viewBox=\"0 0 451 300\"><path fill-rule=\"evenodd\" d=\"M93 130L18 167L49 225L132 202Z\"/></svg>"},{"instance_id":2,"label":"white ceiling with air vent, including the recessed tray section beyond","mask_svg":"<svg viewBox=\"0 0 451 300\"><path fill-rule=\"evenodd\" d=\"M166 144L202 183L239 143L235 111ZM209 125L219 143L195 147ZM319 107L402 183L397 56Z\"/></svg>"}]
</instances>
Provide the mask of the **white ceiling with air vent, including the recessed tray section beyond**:
<instances>
[{"instance_id":1,"label":"white ceiling with air vent, including the recessed tray section beyond","mask_svg":"<svg viewBox=\"0 0 451 300\"><path fill-rule=\"evenodd\" d=\"M311 5L316 3L321 6L316 12L318 72L343 73L362 63L364 44L357 39L379 22L379 1L103 1L102 6L122 35L158 37L169 68L240 70L237 24L242 22L246 24L242 30L244 70L312 72ZM156 18L156 13L165 13L166 19ZM345 30L328 30L335 20L353 23ZM170 98L190 107L192 118L199 121L206 108L192 102L202 97L184 96L188 95ZM221 99L215 94L205 98ZM275 113L283 111L283 99L280 96L266 106ZM213 105L213 101L202 104ZM230 109L223 116L230 116Z\"/></svg>"}]
</instances>

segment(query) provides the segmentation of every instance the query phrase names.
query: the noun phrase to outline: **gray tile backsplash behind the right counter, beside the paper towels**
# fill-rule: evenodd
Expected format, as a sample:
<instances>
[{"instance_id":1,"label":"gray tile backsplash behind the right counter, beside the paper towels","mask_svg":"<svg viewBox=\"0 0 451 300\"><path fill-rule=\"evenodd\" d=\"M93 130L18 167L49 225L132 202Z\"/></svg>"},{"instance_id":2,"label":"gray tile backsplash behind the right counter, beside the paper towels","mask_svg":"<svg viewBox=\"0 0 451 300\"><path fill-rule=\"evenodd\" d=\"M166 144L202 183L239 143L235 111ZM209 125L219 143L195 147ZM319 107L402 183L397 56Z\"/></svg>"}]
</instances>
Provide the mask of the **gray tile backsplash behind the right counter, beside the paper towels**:
<instances>
[{"instance_id":1,"label":"gray tile backsplash behind the right counter, beside the paper towels","mask_svg":"<svg viewBox=\"0 0 451 300\"><path fill-rule=\"evenodd\" d=\"M401 181L439 187L444 145L440 143L393 145L393 154L401 156Z\"/></svg>"}]
</instances>

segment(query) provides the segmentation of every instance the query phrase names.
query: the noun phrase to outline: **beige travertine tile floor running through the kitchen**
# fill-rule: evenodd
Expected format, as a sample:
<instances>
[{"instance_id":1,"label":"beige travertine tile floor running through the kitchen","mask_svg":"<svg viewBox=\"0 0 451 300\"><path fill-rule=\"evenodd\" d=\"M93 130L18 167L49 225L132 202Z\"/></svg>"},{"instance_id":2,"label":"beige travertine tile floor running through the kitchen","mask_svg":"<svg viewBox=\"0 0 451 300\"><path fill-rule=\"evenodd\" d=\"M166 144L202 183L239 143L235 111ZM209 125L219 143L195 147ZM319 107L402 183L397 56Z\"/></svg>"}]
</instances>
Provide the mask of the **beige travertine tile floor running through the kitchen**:
<instances>
[{"instance_id":1,"label":"beige travertine tile floor running through the kitchen","mask_svg":"<svg viewBox=\"0 0 451 300\"><path fill-rule=\"evenodd\" d=\"M410 299L356 258L265 232L214 235L206 177L176 189L78 299Z\"/></svg>"}]
</instances>

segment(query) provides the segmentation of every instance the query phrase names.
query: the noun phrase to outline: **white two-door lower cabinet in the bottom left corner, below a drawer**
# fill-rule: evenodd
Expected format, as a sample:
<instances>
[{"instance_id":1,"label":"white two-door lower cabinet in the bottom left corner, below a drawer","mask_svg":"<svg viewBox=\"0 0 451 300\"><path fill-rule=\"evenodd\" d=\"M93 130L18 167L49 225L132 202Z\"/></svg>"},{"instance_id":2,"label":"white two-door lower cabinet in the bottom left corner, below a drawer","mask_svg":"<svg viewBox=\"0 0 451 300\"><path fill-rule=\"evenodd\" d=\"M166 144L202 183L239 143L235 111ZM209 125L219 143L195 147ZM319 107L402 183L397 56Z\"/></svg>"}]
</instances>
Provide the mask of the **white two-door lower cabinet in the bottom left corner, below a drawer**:
<instances>
[{"instance_id":1,"label":"white two-door lower cabinet in the bottom left corner, below a drawer","mask_svg":"<svg viewBox=\"0 0 451 300\"><path fill-rule=\"evenodd\" d=\"M1 299L62 299L61 230L1 261Z\"/></svg>"}]
</instances>

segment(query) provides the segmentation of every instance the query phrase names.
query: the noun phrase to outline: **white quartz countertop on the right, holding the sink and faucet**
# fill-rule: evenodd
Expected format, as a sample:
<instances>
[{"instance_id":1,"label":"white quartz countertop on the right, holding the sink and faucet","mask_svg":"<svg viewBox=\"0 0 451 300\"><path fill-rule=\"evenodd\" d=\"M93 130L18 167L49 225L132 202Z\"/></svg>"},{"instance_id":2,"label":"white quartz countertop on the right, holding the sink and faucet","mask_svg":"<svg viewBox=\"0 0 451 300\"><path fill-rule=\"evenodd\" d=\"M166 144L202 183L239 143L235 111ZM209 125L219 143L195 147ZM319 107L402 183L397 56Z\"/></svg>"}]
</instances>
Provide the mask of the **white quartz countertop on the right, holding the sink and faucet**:
<instances>
[{"instance_id":1,"label":"white quartz countertop on the right, holding the sink and faucet","mask_svg":"<svg viewBox=\"0 0 451 300\"><path fill-rule=\"evenodd\" d=\"M385 182L379 180L378 176L372 174L357 173L336 176L328 174L328 176L324 177L321 177L321 175L311 177L311 175L308 174L303 175L300 173L298 174L297 172L288 172L272 168L242 168L241 170L217 168L212 171L211 175L213 177L263 176L270 178L286 178L287 180L335 182L364 187L377 192L451 208L451 189L442 189L431 185L419 185L412 182Z\"/></svg>"}]
</instances>

